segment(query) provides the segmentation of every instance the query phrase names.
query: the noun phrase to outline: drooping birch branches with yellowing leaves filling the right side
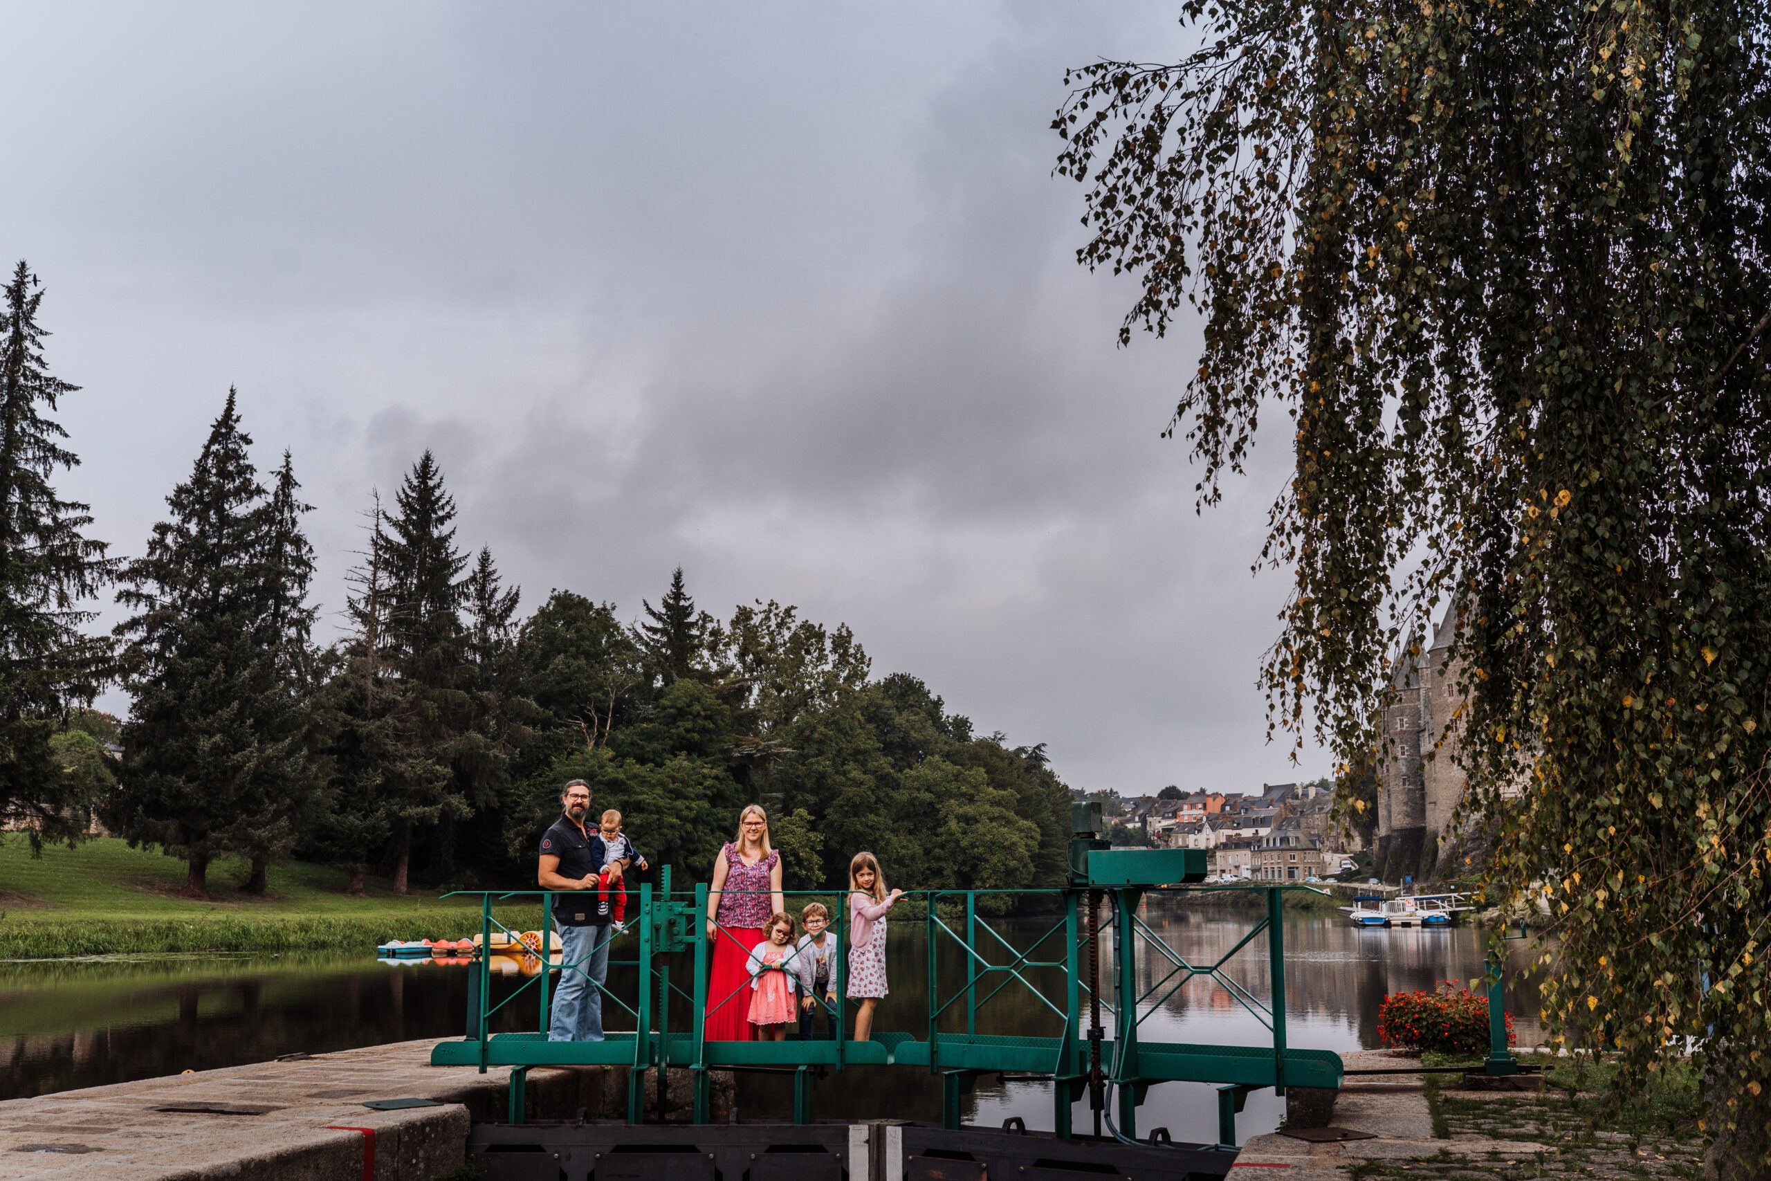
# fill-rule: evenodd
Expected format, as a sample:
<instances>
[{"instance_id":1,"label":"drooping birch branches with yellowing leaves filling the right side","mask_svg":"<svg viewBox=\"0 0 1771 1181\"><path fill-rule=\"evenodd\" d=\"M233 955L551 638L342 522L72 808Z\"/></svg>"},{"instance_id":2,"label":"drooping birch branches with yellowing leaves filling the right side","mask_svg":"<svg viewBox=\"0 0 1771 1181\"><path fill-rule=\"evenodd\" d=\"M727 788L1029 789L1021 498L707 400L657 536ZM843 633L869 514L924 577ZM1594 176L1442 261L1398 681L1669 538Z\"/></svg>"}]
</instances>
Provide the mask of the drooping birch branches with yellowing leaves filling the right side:
<instances>
[{"instance_id":1,"label":"drooping birch branches with yellowing leaves filling the right side","mask_svg":"<svg viewBox=\"0 0 1771 1181\"><path fill-rule=\"evenodd\" d=\"M1183 11L1187 60L1080 71L1059 172L1082 262L1141 274L1126 336L1204 315L1204 499L1293 416L1273 722L1381 758L1390 660L1454 607L1466 818L1543 914L1548 1022L1635 1084L1704 1038L1718 1167L1762 1170L1771 11Z\"/></svg>"}]
</instances>

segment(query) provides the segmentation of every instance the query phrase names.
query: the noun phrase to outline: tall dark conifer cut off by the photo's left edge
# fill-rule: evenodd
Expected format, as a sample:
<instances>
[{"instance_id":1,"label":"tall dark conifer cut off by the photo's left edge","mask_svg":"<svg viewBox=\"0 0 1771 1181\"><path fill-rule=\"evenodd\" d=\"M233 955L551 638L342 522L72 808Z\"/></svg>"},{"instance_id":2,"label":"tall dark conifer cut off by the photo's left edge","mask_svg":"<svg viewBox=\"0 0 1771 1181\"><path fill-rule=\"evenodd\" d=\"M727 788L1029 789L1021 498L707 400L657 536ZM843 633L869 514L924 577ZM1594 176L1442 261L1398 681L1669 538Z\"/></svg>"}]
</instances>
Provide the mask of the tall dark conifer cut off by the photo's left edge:
<instances>
[{"instance_id":1,"label":"tall dark conifer cut off by the photo's left edge","mask_svg":"<svg viewBox=\"0 0 1771 1181\"><path fill-rule=\"evenodd\" d=\"M0 324L0 822L30 834L32 850L73 839L90 804L55 761L55 719L92 698L110 675L112 646L85 636L78 604L112 579L104 544L83 535L87 505L50 485L80 460L46 416L78 386L53 377L37 324L43 289L25 262L5 287Z\"/></svg>"}]
</instances>

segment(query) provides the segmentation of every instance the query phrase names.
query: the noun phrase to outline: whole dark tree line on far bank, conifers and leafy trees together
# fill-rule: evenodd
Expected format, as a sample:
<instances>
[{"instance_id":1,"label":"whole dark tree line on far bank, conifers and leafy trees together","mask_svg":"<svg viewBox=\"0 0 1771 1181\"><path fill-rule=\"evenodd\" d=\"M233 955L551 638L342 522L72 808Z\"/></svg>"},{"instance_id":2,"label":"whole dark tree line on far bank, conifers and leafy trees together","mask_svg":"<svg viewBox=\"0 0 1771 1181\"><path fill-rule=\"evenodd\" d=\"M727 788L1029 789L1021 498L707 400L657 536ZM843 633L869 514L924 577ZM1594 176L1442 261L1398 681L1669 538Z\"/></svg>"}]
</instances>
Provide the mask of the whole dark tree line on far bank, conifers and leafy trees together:
<instances>
[{"instance_id":1,"label":"whole dark tree line on far bank, conifers and leafy trees together","mask_svg":"<svg viewBox=\"0 0 1771 1181\"><path fill-rule=\"evenodd\" d=\"M372 496L329 646L294 462L260 476L234 391L142 556L110 558L50 487L78 460L44 414L74 386L48 374L23 264L5 299L0 809L34 845L97 809L184 859L197 898L220 855L255 892L292 857L344 868L352 892L370 873L397 892L521 885L581 777L691 880L762 802L790 889L841 885L862 848L894 884L1061 884L1070 793L1043 747L974 735L914 676L871 678L845 625L777 602L714 618L680 568L634 623L568 590L521 618L491 549L457 540L429 452L391 505ZM87 636L80 604L108 583L131 616ZM133 698L120 733L83 708L112 680Z\"/></svg>"}]
</instances>

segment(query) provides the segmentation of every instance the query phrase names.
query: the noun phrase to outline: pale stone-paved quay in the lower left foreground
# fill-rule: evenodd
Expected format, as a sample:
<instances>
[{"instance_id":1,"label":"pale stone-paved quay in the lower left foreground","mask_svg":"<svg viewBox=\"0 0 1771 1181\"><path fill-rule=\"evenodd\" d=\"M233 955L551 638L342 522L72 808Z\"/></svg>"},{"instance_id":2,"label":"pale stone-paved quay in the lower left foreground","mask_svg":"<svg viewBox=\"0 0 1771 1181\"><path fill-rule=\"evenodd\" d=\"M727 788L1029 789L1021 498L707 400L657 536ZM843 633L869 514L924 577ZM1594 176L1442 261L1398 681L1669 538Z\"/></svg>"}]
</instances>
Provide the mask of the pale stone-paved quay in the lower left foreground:
<instances>
[{"instance_id":1,"label":"pale stone-paved quay in the lower left foreground","mask_svg":"<svg viewBox=\"0 0 1771 1181\"><path fill-rule=\"evenodd\" d=\"M498 1114L503 1073L430 1066L436 1039L64 1091L0 1103L0 1177L21 1181L336 1181L363 1176L360 1131L375 1131L377 1181L432 1181L462 1162L471 1119ZM535 1117L570 1117L595 1071L531 1069ZM377 1112L365 1100L441 1107ZM595 1103L595 1098L590 1100ZM232 1114L154 1110L213 1105ZM259 1114L241 1114L257 1110Z\"/></svg>"}]
</instances>

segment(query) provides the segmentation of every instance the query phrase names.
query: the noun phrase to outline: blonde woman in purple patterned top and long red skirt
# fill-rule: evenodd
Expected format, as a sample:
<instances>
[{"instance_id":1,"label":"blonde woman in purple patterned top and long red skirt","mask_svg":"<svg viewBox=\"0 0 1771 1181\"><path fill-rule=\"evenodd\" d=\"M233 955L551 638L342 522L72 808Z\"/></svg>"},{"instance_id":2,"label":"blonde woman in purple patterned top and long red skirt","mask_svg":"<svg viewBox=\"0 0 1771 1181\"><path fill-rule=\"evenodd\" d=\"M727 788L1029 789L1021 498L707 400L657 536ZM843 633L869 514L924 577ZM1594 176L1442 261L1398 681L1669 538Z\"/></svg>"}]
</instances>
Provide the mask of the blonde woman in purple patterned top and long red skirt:
<instances>
[{"instance_id":1,"label":"blonde woman in purple patterned top and long red skirt","mask_svg":"<svg viewBox=\"0 0 1771 1181\"><path fill-rule=\"evenodd\" d=\"M769 846L769 813L751 804L739 814L739 836L719 850L714 887L707 894L707 938L714 961L707 972L708 1041L754 1041L749 1023L751 947L763 942L769 915L786 910L781 896L781 853Z\"/></svg>"}]
</instances>

